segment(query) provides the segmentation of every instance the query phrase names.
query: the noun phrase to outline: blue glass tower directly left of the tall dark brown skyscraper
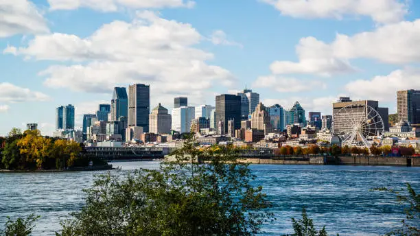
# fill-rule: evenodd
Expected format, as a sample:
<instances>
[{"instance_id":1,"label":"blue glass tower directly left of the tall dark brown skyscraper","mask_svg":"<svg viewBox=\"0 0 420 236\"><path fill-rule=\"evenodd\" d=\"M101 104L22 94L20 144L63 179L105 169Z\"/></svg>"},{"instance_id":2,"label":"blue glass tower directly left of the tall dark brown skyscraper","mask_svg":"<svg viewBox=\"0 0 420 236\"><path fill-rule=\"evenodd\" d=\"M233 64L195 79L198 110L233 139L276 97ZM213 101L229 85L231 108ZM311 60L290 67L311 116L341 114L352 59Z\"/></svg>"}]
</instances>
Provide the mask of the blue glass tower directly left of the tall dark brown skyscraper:
<instances>
[{"instance_id":1,"label":"blue glass tower directly left of the tall dark brown skyscraper","mask_svg":"<svg viewBox=\"0 0 420 236\"><path fill-rule=\"evenodd\" d=\"M127 117L128 114L128 96L124 87L115 87L113 99L111 100L111 120L119 121L120 117Z\"/></svg>"}]
</instances>

